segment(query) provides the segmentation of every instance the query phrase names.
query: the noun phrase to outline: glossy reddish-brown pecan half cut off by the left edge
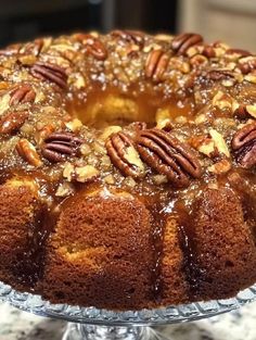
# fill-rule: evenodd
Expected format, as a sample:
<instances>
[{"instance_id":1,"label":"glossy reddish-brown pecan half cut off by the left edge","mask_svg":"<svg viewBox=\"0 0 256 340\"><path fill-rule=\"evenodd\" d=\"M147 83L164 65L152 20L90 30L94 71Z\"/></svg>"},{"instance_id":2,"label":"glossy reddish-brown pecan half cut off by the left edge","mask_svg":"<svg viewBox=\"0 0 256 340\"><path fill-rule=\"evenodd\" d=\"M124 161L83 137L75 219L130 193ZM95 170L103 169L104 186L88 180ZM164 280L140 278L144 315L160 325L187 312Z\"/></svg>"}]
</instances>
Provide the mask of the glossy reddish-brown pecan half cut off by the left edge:
<instances>
[{"instance_id":1,"label":"glossy reddish-brown pecan half cut off by the left edge","mask_svg":"<svg viewBox=\"0 0 256 340\"><path fill-rule=\"evenodd\" d=\"M13 134L23 126L28 117L27 111L10 112L0 121L0 134Z\"/></svg>"}]
</instances>

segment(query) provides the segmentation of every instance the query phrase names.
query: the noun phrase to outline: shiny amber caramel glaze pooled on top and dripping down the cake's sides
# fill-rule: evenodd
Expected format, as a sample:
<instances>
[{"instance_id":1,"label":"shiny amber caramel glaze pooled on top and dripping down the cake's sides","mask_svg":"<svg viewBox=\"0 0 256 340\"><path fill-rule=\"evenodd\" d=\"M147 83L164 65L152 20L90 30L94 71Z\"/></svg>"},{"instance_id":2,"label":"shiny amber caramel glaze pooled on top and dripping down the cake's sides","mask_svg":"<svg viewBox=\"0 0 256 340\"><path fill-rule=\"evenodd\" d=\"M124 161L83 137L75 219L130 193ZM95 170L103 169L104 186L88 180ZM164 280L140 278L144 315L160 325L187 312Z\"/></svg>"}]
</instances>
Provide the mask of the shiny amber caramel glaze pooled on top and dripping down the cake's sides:
<instances>
[{"instance_id":1,"label":"shiny amber caramel glaze pooled on top and dripping down the cake's sides","mask_svg":"<svg viewBox=\"0 0 256 340\"><path fill-rule=\"evenodd\" d=\"M169 47L168 47L169 50ZM111 50L110 50L111 52ZM110 53L110 55L113 53ZM139 54L138 54L139 55ZM145 56L145 55L144 55ZM187 56L185 56L187 58ZM84 60L84 58L82 58ZM91 73L90 70L90 58L85 59L86 62L89 61L89 64L82 64L85 67L85 73ZM183 56L182 56L183 60ZM208 60L207 60L208 62ZM215 62L213 62L214 64ZM112 63L111 63L112 64ZM132 63L130 63L132 65ZM115 64L113 64L115 67ZM144 65L144 61L143 64ZM141 65L141 66L142 66ZM222 67L222 64L220 64ZM219 65L219 66L220 66ZM218 66L218 63L217 63ZM191 66L192 67L192 66ZM204 67L202 65L202 67ZM205 66L206 67L206 66ZM208 67L208 66L207 66ZM207 71L206 67L206 71ZM90 70L90 72L89 72ZM209 68L210 70L210 68ZM110 72L110 71L108 71ZM197 71L196 71L197 72ZM194 70L191 71L192 75L196 75ZM204 77L204 73L199 73L199 77L195 78L191 77L191 89L189 86L184 86L184 83L181 83L182 86L180 87L179 77L187 77L187 72L184 72L184 75L174 76L171 79L171 83L167 84L166 86L159 85L152 85L151 80L145 80L143 78L143 81L139 81L138 79L136 83L129 81L128 85L126 85L126 90L121 91L120 86L114 87L113 79L110 78L108 83L101 81L100 80L100 72L99 72L99 80L94 81L92 80L92 77L87 79L87 88L82 88L82 90L68 90L68 93L66 96L57 97L54 100L49 96L49 103L53 103L56 108L63 109L65 111L65 114L71 115L71 117L78 117L84 125L82 128L87 128L92 130L94 134L93 137L88 137L82 135L84 130L79 131L78 134L81 134L82 138L85 138L85 143L88 146L91 146L93 140L95 140L100 134L102 134L103 128L108 125L119 125L121 127L126 127L130 123L135 121L141 121L148 123L148 127L152 127L156 125L156 112L157 109L167 110L170 113L170 118L174 123L174 136L177 133L177 135L183 139L184 141L188 141L191 137L194 137L194 131L196 136L207 136L208 137L208 130L210 127L214 126L214 123L216 123L217 118L227 118L227 122L230 123L230 117L233 117L233 113L229 112L229 106L225 108L225 110L220 110L216 108L215 104L212 103L213 97L218 93L218 91L223 91L225 93L240 99L241 102L245 101L245 103L253 103L255 99L255 86L254 85L244 85L244 87L239 83L238 85L234 85L232 87L225 87L220 85L219 80L215 79L208 80L207 77ZM112 74L110 72L110 74ZM141 73L140 73L141 74ZM181 73L182 74L182 73ZM207 75L207 73L206 73ZM52 77L50 77L51 80ZM94 77L95 78L95 77ZM49 80L49 79L48 79ZM117 79L118 80L118 79ZM119 79L120 80L120 79ZM118 80L118 81L119 81ZM184 80L184 79L183 79ZM182 81L183 81L182 80ZM220 79L221 80L221 79ZM38 80L39 81L39 80ZM118 84L118 81L115 81L115 84ZM140 83L140 84L139 84ZM121 81L120 81L121 84ZM44 85L39 84L40 87L44 87ZM179 86L178 86L179 85ZM192 87L193 86L193 87ZM220 93L221 93L220 91ZM54 92L54 91L53 91ZM197 101L200 103L196 103L195 101L195 93L201 95L197 96ZM252 93L252 95L249 95ZM53 96L54 97L54 96ZM111 115L111 110L107 112L104 111L104 105L107 105L107 100L110 98L117 98L121 100L127 100L128 103L130 103L130 110L128 110L126 113L120 112L120 115L114 114ZM251 98L252 97L252 98ZM200 99L199 99L200 98ZM130 102L129 102L130 101ZM49 104L47 103L47 104ZM94 110L97 104L99 104L99 108L97 111ZM206 108L207 106L207 108ZM102 109L103 108L103 109ZM137 109L132 109L137 108ZM201 109L207 109L203 110L201 112ZM36 108L37 109L37 108ZM133 111L132 111L133 110ZM231 110L231 109L230 109ZM35 110L36 112L37 110ZM46 111L49 112L49 111ZM93 112L95 115L93 115ZM195 123L195 118L200 115L204 114L206 116L206 121L204 123L199 124L199 126ZM48 114L48 113L46 113ZM133 116L131 115L133 114ZM110 116L108 116L110 115ZM63 119L63 115L60 114L60 119ZM187 123L175 123L176 117L185 117ZM44 116L43 116L44 118ZM40 121L40 117L37 119ZM48 116L48 119L50 123L52 117L51 113ZM228 144L230 146L230 141L232 139L232 135L236 129L236 126L240 124L240 122L235 121L236 118L233 118L231 123L234 124L227 124L227 128L222 128L222 122L218 123L217 129L220 131L223 130L223 138L227 140ZM46 119L47 121L47 119ZM35 141L34 137L36 135L35 126L36 126L36 119L33 121L30 130L23 131L18 137L22 138L28 138L29 140ZM180 121L178 121L180 122ZM55 122L54 122L55 123ZM63 122L62 122L63 123ZM183 124L183 125L182 125ZM64 124L63 124L64 125ZM63 128L63 125L61 125L61 128ZM88 128L89 127L89 128ZM61 129L59 125L55 126L56 129ZM65 129L65 127L64 127ZM30 131L30 133L28 133ZM27 134L27 135L26 135ZM30 135L31 136L30 136ZM180 135L179 135L180 134ZM4 141L5 137L1 137L1 141ZM93 139L93 140L92 140ZM15 150L10 149L10 150ZM38 152L40 154L40 146L38 146ZM94 152L94 151L93 151ZM93 154L98 159L100 159L102 155L97 154L97 152ZM124 176L120 175L118 169L116 169L114 166L108 168L107 172L105 172L103 175L106 174L113 174L115 177L115 184L113 185L113 188L115 190L123 190L131 193L133 197L141 200L148 210L151 213L152 217L152 252L153 252L153 263L152 263L152 275L151 275L151 287L152 287L152 298L155 302L161 301L162 293L163 293L163 278L162 278L162 261L163 261L163 238L165 234L165 225L168 216L170 214L175 214L177 217L179 227L179 242L180 248L183 252L183 270L185 273L187 281L189 284L189 299L192 301L196 297L196 290L197 286L200 284L200 280L203 276L202 269L197 265L197 251L196 251L196 238L194 234L194 226L193 226L193 214L194 210L196 210L196 206L193 206L191 204L196 197L196 194L200 193L200 191L204 190L204 186L207 186L209 184L214 184L216 186L218 185L227 185L233 188L238 196L241 199L241 202L243 204L243 212L245 221L247 221L249 227L253 230L254 237L255 237L255 243L256 243L256 199L255 199L255 188L252 189L249 186L254 184L255 186L255 173L249 173L248 171L242 171L238 164L235 164L235 161L232 164L233 169L228 172L225 175L218 176L208 174L206 168L209 165L213 165L213 159L202 155L199 152L199 159L202 161L202 164L204 163L204 175L199 180L193 179L191 180L191 186L187 189L180 189L177 190L176 188L171 187L171 184L162 184L159 186L155 185L152 181L151 176L155 176L156 174L151 171L151 168L146 167L146 177L143 180L138 180L136 182L135 188L128 187L124 184L125 179ZM66 158L65 161L73 162L74 159ZM76 162L75 160L74 162ZM85 158L85 163L88 161L88 159ZM29 286L34 288L36 282L42 278L43 273L43 266L44 266L44 255L46 255L46 244L47 241L52 234L52 231L55 229L55 225L57 222L59 213L62 210L62 205L65 204L65 200L63 198L57 198L55 196L56 189L59 185L65 182L63 179L63 167L61 165L53 165L50 162L43 160L43 165L40 169L33 169L27 171L27 162L22 160L22 158L16 153L16 151L13 151L12 156L10 156L9 160L9 153L0 151L0 182L4 182L8 179L11 179L15 176L26 177L30 176L30 178L38 182L39 185L39 196L42 202L42 209L36 216L36 224L31 227L31 235L29 236L27 240L27 252L24 253L23 261L13 269L15 273L15 276L17 277L18 281L21 284L24 284L25 286ZM16 169L20 168L18 173ZM56 169L56 174L54 175L53 168ZM100 169L102 171L102 168ZM57 173L59 172L59 173ZM104 171L102 171L104 172ZM53 176L53 175L55 176ZM111 185L107 186L103 184L103 175L102 178L93 179L94 182L92 184L78 184L78 182L72 182L74 191L73 193L78 193L79 191L93 191L103 189L104 187L111 188ZM204 185L205 182L205 185ZM203 184L203 185L202 185ZM72 193L72 194L73 194ZM190 199L187 198L187 196L191 196ZM185 202L187 201L187 202ZM189 204L188 204L189 201ZM172 202L172 210L171 212L167 212L166 206Z\"/></svg>"}]
</instances>

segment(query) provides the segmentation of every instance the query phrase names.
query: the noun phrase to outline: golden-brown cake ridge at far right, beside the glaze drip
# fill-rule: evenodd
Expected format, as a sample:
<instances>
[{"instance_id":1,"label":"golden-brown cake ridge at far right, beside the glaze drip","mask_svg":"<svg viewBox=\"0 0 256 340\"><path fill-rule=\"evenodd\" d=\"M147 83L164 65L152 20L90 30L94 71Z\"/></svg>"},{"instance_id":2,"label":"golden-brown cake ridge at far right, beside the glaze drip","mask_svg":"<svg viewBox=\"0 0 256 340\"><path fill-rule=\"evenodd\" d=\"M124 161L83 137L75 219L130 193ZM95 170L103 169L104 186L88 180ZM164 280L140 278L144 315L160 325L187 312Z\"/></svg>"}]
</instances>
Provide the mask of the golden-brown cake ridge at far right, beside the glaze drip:
<instances>
[{"instance_id":1,"label":"golden-brown cake ridge at far right, beside the glaze drip","mask_svg":"<svg viewBox=\"0 0 256 340\"><path fill-rule=\"evenodd\" d=\"M191 294L234 295L256 280L255 239L235 192L208 189L195 202ZM196 279L195 279L196 278Z\"/></svg>"}]
</instances>

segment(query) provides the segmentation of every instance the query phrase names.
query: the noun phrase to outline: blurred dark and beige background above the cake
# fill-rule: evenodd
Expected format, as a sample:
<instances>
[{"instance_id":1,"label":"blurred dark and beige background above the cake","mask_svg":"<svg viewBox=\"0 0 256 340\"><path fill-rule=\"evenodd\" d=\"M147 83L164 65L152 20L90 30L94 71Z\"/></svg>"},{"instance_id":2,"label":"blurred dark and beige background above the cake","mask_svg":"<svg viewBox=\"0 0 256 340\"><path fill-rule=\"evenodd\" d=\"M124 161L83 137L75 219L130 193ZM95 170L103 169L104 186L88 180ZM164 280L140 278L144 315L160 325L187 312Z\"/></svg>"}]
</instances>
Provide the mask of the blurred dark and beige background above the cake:
<instances>
[{"instance_id":1,"label":"blurred dark and beige background above the cake","mask_svg":"<svg viewBox=\"0 0 256 340\"><path fill-rule=\"evenodd\" d=\"M0 0L0 46L114 27L199 32L256 51L256 0Z\"/></svg>"}]
</instances>

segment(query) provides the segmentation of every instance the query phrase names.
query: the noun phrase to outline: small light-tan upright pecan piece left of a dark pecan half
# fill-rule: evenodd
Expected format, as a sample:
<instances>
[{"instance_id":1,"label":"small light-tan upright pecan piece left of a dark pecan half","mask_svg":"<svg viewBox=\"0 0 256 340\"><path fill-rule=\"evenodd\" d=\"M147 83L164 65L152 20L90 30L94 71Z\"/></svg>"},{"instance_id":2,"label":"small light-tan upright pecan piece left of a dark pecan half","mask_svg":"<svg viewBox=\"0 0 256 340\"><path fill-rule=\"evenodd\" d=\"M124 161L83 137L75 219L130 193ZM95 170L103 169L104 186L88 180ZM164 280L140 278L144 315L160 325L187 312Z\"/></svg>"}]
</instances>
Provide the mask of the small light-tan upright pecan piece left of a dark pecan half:
<instances>
[{"instance_id":1,"label":"small light-tan upright pecan piece left of a dark pecan half","mask_svg":"<svg viewBox=\"0 0 256 340\"><path fill-rule=\"evenodd\" d=\"M37 153L36 148L27 139L22 138L16 143L17 153L27 161L30 165L39 167L42 165L42 161Z\"/></svg>"}]
</instances>

